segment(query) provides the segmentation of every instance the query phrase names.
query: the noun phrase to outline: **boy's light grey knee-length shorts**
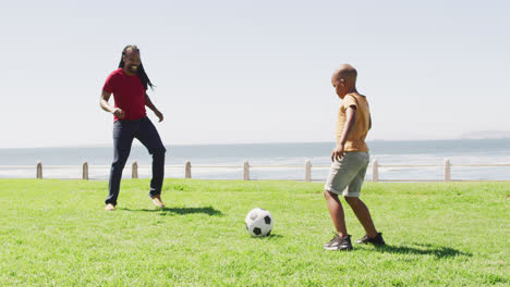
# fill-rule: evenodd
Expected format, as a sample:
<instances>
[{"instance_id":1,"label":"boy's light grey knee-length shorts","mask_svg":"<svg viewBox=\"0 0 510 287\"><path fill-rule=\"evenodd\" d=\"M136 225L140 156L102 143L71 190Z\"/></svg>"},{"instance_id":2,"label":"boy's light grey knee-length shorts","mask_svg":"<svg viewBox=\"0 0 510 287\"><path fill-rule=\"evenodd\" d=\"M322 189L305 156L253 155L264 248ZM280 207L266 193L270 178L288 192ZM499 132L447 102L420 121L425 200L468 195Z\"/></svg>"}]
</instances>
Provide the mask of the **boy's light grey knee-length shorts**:
<instances>
[{"instance_id":1,"label":"boy's light grey knee-length shorts","mask_svg":"<svg viewBox=\"0 0 510 287\"><path fill-rule=\"evenodd\" d=\"M345 152L339 162L331 164L324 189L344 197L360 197L368 166L368 152Z\"/></svg>"}]
</instances>

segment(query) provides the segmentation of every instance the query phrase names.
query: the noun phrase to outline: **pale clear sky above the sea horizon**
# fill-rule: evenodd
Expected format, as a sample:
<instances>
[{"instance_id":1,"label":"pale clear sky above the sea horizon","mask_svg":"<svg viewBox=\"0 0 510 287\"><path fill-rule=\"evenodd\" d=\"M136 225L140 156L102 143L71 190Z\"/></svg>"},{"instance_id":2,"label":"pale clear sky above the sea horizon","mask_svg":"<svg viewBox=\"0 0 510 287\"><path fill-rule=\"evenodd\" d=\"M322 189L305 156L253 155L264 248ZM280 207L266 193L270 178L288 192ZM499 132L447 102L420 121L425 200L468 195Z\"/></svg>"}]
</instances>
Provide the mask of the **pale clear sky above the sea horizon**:
<instances>
[{"instance_id":1,"label":"pale clear sky above the sea horizon","mask_svg":"<svg viewBox=\"0 0 510 287\"><path fill-rule=\"evenodd\" d=\"M341 63L359 70L369 139L510 130L509 12L502 0L2 2L0 148L111 145L99 95L129 43L157 86L166 145L332 141Z\"/></svg>"}]
</instances>

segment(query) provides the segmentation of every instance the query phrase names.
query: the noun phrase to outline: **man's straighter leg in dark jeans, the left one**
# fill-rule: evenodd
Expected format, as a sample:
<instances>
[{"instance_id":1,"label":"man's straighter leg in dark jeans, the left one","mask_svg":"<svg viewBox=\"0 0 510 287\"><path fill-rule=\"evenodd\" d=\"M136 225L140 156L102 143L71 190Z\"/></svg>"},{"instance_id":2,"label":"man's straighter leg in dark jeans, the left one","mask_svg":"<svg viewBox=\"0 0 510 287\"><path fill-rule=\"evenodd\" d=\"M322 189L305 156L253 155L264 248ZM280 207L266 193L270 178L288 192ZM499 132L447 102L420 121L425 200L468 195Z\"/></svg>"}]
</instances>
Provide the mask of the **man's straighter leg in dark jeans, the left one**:
<instances>
[{"instance_id":1,"label":"man's straighter leg in dark jeans, the left one","mask_svg":"<svg viewBox=\"0 0 510 287\"><path fill-rule=\"evenodd\" d=\"M133 128L127 122L117 121L113 123L113 162L110 170L110 179L108 184L108 198L106 204L117 205L119 197L120 182L122 171L131 151L133 142Z\"/></svg>"}]
</instances>

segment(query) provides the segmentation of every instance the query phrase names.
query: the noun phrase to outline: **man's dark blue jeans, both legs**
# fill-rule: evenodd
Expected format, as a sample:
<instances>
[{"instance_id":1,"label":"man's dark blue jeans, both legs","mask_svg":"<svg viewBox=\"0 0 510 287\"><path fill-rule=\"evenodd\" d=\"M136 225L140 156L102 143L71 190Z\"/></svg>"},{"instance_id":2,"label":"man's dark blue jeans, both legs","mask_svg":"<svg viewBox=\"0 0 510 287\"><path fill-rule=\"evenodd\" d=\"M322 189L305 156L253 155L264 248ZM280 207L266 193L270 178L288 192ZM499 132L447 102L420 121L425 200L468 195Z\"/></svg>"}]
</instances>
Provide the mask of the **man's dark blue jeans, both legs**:
<instances>
[{"instance_id":1,"label":"man's dark blue jeans, both legs","mask_svg":"<svg viewBox=\"0 0 510 287\"><path fill-rule=\"evenodd\" d=\"M161 194L165 178L165 152L167 150L161 142L158 130L148 117L137 121L119 120L113 123L114 154L110 171L109 195L105 201L107 204L117 205L122 171L130 155L134 138L137 138L153 154L153 179L150 180L149 196Z\"/></svg>"}]
</instances>

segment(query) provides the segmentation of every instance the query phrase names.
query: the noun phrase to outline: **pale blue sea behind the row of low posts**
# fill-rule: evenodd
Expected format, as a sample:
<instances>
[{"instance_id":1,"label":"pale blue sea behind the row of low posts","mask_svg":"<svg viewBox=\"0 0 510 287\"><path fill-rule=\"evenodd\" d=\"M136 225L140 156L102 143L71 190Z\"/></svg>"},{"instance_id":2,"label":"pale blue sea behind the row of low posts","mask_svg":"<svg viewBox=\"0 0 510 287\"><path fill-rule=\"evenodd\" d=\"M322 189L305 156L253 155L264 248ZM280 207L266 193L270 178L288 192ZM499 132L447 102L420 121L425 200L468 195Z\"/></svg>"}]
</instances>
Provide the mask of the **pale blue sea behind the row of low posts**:
<instances>
[{"instance_id":1,"label":"pale blue sea behind the row of low posts","mask_svg":"<svg viewBox=\"0 0 510 287\"><path fill-rule=\"evenodd\" d=\"M452 180L510 180L510 138L373 140L367 145L371 165L377 160L382 180L442 180L446 160L451 163ZM190 161L193 178L242 179L247 161L251 179L303 180L309 160L312 180L324 182L333 147L333 142L167 146L166 177L183 178ZM87 162L90 179L108 179L112 158L112 146L0 149L0 178L34 178L38 162L44 178L82 178L82 165ZM123 177L131 177L135 161L138 176L150 177L151 157L138 145L132 147ZM372 179L371 167L365 178Z\"/></svg>"}]
</instances>

